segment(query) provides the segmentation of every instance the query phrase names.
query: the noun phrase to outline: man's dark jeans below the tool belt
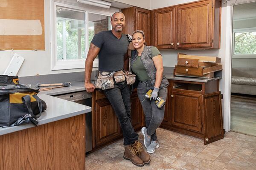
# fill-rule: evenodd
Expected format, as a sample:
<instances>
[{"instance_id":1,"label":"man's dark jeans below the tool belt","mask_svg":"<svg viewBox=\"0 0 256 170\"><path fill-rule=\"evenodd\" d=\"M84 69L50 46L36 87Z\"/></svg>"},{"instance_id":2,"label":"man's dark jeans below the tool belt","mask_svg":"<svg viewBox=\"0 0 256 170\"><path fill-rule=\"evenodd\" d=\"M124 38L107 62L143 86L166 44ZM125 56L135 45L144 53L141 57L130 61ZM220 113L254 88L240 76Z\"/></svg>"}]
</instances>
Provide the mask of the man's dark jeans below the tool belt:
<instances>
[{"instance_id":1,"label":"man's dark jeans below the tool belt","mask_svg":"<svg viewBox=\"0 0 256 170\"><path fill-rule=\"evenodd\" d=\"M134 132L131 125L131 97L126 81L115 82L114 88L104 90L104 94L111 103L121 125L124 145L134 144L138 140L138 134Z\"/></svg>"}]
</instances>

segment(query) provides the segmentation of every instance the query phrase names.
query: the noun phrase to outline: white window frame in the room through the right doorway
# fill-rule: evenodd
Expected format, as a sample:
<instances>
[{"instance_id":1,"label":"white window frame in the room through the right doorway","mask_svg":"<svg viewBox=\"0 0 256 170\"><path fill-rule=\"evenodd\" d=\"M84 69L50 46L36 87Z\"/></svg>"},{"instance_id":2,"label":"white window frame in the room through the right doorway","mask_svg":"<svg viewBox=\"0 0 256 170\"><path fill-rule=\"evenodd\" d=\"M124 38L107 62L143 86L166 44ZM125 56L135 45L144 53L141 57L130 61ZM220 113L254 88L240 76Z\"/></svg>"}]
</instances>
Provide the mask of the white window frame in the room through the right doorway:
<instances>
[{"instance_id":1,"label":"white window frame in the room through the right doorway","mask_svg":"<svg viewBox=\"0 0 256 170\"><path fill-rule=\"evenodd\" d=\"M241 33L241 32L256 32L256 27L252 28L238 28L238 29L233 29L233 41L232 41L232 58L256 58L256 54L235 54L235 34L236 33Z\"/></svg>"}]
</instances>

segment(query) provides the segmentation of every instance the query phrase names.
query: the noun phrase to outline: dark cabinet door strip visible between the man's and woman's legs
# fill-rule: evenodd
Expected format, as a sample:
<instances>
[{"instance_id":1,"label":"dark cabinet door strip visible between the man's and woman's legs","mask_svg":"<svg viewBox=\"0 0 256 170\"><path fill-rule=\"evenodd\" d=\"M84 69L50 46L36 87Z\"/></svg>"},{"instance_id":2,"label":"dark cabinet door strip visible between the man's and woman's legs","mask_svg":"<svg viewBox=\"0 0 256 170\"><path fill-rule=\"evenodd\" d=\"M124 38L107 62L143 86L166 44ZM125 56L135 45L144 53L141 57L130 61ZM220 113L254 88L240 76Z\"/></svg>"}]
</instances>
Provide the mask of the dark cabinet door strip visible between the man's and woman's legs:
<instances>
[{"instance_id":1,"label":"dark cabinet door strip visible between the man's and woman's legs","mask_svg":"<svg viewBox=\"0 0 256 170\"><path fill-rule=\"evenodd\" d=\"M131 96L131 123L135 131L140 130L144 125L143 108L137 95Z\"/></svg>"}]
</instances>

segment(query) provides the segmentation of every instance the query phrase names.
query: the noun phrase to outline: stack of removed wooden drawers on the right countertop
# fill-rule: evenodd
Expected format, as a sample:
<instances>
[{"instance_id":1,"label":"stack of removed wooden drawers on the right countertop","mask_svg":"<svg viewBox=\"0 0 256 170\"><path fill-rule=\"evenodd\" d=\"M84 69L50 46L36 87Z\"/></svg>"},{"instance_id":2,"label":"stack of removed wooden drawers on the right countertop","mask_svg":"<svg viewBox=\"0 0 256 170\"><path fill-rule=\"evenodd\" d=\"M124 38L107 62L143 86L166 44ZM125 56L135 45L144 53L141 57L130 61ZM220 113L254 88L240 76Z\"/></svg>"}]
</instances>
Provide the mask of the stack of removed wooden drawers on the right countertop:
<instances>
[{"instance_id":1,"label":"stack of removed wooden drawers on the right countertop","mask_svg":"<svg viewBox=\"0 0 256 170\"><path fill-rule=\"evenodd\" d=\"M191 56L178 53L175 76L212 78L215 71L222 70L219 57Z\"/></svg>"}]
</instances>

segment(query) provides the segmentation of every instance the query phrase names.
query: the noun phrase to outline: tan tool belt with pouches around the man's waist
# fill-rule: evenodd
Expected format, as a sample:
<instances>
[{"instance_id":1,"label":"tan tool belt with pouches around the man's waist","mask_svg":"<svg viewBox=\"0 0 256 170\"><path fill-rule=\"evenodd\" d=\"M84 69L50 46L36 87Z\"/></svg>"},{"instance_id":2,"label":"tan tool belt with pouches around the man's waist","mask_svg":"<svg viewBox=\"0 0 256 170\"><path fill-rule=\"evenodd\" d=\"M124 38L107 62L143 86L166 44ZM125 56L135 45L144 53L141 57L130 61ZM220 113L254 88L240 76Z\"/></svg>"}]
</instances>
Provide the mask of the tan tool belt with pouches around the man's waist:
<instances>
[{"instance_id":1,"label":"tan tool belt with pouches around the man's waist","mask_svg":"<svg viewBox=\"0 0 256 170\"><path fill-rule=\"evenodd\" d=\"M99 71L98 78L95 83L95 88L107 90L114 88L114 80L116 83L123 82L126 79L128 85L132 85L135 82L136 75L129 71Z\"/></svg>"}]
</instances>

